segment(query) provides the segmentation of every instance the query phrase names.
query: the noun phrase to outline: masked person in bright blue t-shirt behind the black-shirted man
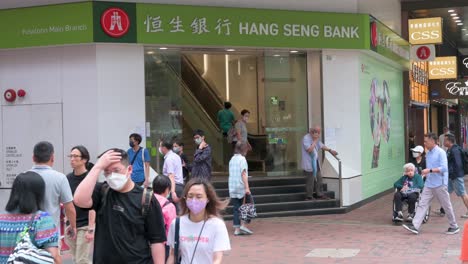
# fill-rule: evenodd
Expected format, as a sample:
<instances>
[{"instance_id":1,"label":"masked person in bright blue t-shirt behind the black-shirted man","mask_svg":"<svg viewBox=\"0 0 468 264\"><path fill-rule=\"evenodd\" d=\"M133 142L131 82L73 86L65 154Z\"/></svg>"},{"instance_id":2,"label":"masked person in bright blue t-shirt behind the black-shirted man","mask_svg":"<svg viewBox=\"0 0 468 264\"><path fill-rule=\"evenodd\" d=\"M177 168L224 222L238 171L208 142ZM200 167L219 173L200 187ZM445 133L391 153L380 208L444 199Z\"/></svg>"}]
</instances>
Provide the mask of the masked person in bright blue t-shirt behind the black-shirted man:
<instances>
[{"instance_id":1,"label":"masked person in bright blue t-shirt behind the black-shirted man","mask_svg":"<svg viewBox=\"0 0 468 264\"><path fill-rule=\"evenodd\" d=\"M141 140L139 134L131 134L129 136L130 148L127 150L127 154L130 165L132 165L132 181L138 186L144 184L145 187L148 187L151 186L149 182L150 156L147 149L140 147Z\"/></svg>"}]
</instances>

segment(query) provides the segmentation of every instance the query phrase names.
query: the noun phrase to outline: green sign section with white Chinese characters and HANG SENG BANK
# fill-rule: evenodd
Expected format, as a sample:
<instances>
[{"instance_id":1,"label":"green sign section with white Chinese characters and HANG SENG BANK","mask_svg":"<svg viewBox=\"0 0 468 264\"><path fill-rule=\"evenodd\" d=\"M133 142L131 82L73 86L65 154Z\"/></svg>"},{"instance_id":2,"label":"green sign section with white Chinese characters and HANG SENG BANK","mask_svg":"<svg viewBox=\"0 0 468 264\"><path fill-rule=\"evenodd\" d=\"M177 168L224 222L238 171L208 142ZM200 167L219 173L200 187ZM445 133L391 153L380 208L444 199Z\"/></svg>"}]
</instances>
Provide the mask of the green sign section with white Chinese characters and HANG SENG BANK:
<instances>
[{"instance_id":1,"label":"green sign section with white Chinese characters and HANG SENG BANK","mask_svg":"<svg viewBox=\"0 0 468 264\"><path fill-rule=\"evenodd\" d=\"M369 49L369 15L137 4L137 42Z\"/></svg>"}]
</instances>

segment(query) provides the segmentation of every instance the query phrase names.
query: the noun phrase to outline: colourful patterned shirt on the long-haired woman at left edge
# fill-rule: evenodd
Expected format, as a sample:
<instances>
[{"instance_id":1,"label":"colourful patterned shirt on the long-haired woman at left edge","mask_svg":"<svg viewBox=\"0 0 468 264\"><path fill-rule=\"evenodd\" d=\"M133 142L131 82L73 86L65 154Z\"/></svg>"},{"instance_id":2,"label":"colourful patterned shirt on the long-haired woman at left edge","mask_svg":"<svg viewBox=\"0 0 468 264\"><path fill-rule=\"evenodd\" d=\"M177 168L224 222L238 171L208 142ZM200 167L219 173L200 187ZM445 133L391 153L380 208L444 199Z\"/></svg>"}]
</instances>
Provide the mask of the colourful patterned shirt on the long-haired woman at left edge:
<instances>
[{"instance_id":1,"label":"colourful patterned shirt on the long-haired woman at left edge","mask_svg":"<svg viewBox=\"0 0 468 264\"><path fill-rule=\"evenodd\" d=\"M0 263L6 263L8 256L15 249L19 235L30 221L30 214L0 213ZM37 212L29 234L32 243L38 248L58 246L57 229L54 220L47 212Z\"/></svg>"}]
</instances>

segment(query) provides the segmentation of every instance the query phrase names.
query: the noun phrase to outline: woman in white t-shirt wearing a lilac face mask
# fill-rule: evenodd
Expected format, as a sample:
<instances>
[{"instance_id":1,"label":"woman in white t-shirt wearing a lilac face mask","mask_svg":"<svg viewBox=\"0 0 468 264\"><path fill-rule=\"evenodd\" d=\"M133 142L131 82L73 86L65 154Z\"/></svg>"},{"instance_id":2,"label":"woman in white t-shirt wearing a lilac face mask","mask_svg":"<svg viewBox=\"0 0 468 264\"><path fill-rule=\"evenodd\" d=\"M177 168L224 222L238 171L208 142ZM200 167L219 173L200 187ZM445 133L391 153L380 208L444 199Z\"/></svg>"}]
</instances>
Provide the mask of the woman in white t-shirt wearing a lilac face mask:
<instances>
[{"instance_id":1,"label":"woman in white t-shirt wearing a lilac face mask","mask_svg":"<svg viewBox=\"0 0 468 264\"><path fill-rule=\"evenodd\" d=\"M231 250L226 224L220 218L228 201L221 201L213 186L202 179L193 179L187 183L180 205L182 216L179 227L179 256L182 264L220 264L223 252ZM175 264L175 226L172 221L167 236L171 247L168 264Z\"/></svg>"}]
</instances>

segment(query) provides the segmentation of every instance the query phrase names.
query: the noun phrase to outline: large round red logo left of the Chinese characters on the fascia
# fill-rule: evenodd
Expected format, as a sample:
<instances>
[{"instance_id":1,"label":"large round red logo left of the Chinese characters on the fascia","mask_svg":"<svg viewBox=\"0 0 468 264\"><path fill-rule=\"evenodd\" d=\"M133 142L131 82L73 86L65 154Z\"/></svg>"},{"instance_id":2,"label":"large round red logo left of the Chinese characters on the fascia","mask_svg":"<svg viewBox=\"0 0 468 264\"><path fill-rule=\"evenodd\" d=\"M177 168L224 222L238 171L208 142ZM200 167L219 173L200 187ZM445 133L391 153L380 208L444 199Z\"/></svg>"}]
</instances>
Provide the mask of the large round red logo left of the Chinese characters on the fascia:
<instances>
[{"instance_id":1,"label":"large round red logo left of the Chinese characters on the fascia","mask_svg":"<svg viewBox=\"0 0 468 264\"><path fill-rule=\"evenodd\" d=\"M101 15L101 28L111 37L122 37L130 28L128 14L117 7L106 9Z\"/></svg>"}]
</instances>

